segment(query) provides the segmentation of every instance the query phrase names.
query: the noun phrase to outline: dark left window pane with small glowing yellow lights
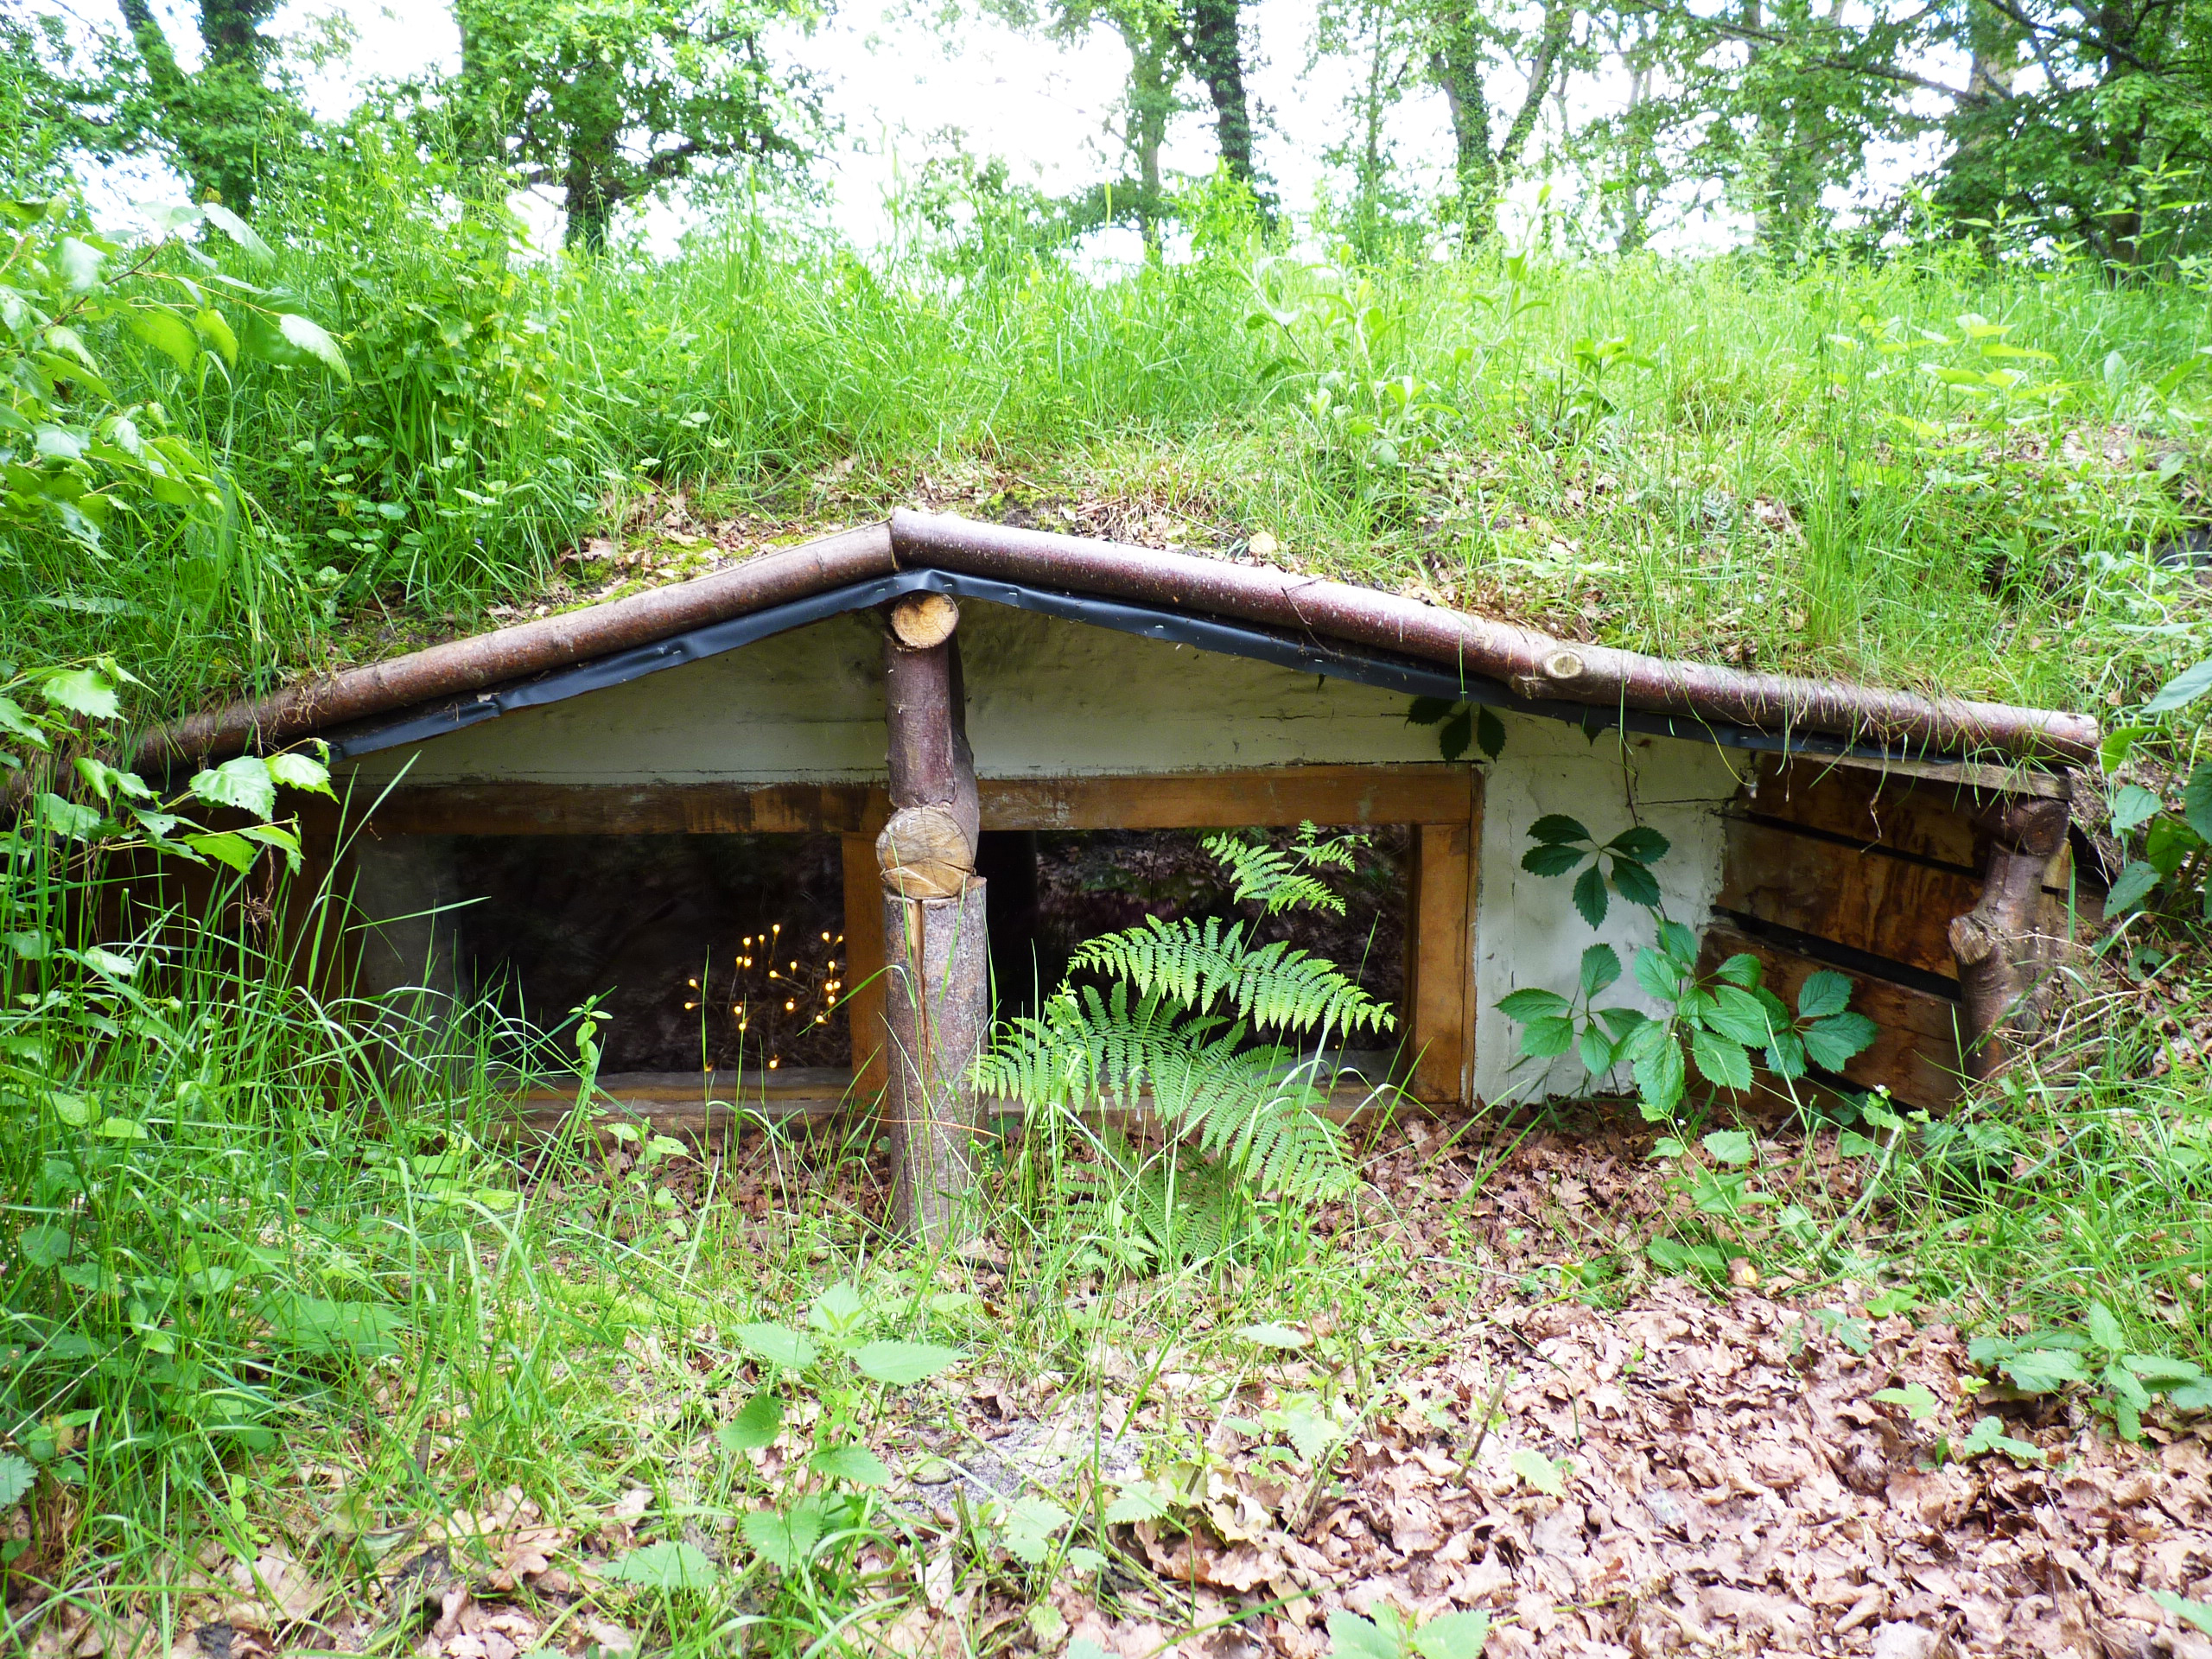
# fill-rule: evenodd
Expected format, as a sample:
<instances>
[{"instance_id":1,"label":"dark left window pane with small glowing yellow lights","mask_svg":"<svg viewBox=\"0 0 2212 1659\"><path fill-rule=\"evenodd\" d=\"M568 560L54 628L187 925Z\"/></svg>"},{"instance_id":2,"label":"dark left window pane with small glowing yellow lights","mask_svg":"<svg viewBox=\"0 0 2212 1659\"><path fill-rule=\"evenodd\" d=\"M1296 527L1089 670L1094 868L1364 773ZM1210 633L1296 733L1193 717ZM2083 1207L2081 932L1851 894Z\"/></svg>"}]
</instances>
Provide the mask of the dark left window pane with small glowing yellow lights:
<instances>
[{"instance_id":1,"label":"dark left window pane with small glowing yellow lights","mask_svg":"<svg viewBox=\"0 0 2212 1659\"><path fill-rule=\"evenodd\" d=\"M462 971L617 1071L849 1066L836 836L456 836Z\"/></svg>"}]
</instances>

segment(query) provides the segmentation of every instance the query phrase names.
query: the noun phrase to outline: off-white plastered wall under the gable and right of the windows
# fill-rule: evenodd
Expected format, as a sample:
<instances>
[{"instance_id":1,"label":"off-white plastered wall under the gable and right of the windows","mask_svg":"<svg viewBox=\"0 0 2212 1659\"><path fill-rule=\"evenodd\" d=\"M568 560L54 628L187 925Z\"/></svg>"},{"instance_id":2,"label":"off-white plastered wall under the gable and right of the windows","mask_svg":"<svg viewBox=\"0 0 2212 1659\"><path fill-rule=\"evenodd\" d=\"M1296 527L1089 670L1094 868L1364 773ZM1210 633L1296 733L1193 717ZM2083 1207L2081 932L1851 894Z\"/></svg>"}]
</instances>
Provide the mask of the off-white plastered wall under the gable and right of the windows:
<instances>
[{"instance_id":1,"label":"off-white plastered wall under the gable and right of the windows","mask_svg":"<svg viewBox=\"0 0 2212 1659\"><path fill-rule=\"evenodd\" d=\"M1433 728L1407 699L1194 646L971 602L960 622L969 739L984 776L1079 776L1389 765L1436 761ZM880 633L834 617L686 668L522 710L429 743L363 757L363 785L407 783L785 783L883 776ZM1657 867L1668 916L1703 925L1721 880L1719 805L1736 792L1725 750L1506 717L1486 765L1475 902L1475 1095L1586 1088L1579 1066L1517 1068L1517 1026L1498 1000L1571 989L1584 947L1648 942L1644 911L1615 905L1599 933L1564 878L1520 867L1528 825L1582 818L1599 841L1648 823L1672 843ZM1608 1000L1641 1002L1621 980Z\"/></svg>"}]
</instances>

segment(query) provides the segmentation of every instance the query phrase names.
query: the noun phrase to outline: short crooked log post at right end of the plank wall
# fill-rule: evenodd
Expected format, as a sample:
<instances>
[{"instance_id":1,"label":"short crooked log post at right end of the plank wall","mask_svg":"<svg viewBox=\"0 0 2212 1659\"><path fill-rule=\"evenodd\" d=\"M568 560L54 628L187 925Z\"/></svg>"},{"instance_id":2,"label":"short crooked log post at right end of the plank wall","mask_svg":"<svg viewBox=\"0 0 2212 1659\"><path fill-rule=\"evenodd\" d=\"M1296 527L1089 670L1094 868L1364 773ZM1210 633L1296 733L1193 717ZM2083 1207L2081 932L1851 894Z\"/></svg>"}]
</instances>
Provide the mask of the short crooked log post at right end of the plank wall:
<instances>
[{"instance_id":1,"label":"short crooked log post at right end of the plank wall","mask_svg":"<svg viewBox=\"0 0 2212 1659\"><path fill-rule=\"evenodd\" d=\"M1951 956L1966 1004L1966 1073L2002 1073L2022 1042L2042 1029L2051 991L2044 984L2055 942L2042 927L2044 872L2066 845L2066 801L2004 799L1980 814L1989 830L1982 898L1951 918Z\"/></svg>"}]
</instances>

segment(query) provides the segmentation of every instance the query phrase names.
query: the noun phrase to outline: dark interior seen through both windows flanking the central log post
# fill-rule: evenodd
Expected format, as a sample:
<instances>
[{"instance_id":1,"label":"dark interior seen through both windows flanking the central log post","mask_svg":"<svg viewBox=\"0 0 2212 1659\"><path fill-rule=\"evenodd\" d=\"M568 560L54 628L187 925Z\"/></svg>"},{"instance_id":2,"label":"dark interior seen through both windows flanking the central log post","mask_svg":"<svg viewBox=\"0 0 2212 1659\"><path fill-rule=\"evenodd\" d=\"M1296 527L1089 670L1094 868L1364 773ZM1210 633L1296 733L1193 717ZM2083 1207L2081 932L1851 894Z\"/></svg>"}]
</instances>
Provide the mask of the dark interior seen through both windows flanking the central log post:
<instances>
[{"instance_id":1,"label":"dark interior seen through both windows flanking the central log post","mask_svg":"<svg viewBox=\"0 0 2212 1659\"><path fill-rule=\"evenodd\" d=\"M1146 916L1259 920L1327 956L1369 995L1405 991L1409 836L1369 834L1329 872L1345 914L1237 907L1206 830L987 832L1000 1013L1035 1009L1086 938ZM1290 845L1290 830L1241 832ZM602 1066L703 1071L852 1064L836 836L456 836L460 971L540 1031L597 993Z\"/></svg>"}]
</instances>

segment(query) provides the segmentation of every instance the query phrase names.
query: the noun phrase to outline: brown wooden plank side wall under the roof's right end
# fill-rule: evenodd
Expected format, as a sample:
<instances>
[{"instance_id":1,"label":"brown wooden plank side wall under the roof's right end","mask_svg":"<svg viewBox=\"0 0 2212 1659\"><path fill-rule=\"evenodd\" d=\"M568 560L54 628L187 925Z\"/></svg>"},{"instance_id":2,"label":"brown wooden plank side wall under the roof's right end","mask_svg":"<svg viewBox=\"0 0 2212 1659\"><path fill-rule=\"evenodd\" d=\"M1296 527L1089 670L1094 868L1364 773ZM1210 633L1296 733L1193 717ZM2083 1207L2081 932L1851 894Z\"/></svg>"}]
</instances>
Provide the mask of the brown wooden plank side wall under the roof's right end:
<instances>
[{"instance_id":1,"label":"brown wooden plank side wall under the roof's right end","mask_svg":"<svg viewBox=\"0 0 2212 1659\"><path fill-rule=\"evenodd\" d=\"M1958 962L1949 927L1982 896L1989 834L1978 812L2046 779L1971 772L1973 783L1871 763L1756 757L1725 814L1725 863L1703 967L1750 951L1785 1002L1818 969L1854 984L1882 1035L1843 1075L1940 1110L1960 1093ZM2008 787L2002 787L2008 785ZM2053 933L2068 933L2073 858L2044 878Z\"/></svg>"}]
</instances>

